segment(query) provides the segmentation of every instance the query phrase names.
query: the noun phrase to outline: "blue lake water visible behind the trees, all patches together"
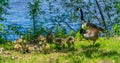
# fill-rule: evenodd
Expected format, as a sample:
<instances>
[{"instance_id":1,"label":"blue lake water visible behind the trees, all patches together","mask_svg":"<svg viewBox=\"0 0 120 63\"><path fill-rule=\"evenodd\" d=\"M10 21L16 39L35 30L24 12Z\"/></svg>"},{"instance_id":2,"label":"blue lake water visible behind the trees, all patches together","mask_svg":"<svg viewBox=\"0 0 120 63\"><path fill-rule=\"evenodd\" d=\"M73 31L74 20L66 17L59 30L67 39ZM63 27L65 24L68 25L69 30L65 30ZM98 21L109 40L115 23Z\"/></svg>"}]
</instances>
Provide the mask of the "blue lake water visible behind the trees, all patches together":
<instances>
[{"instance_id":1,"label":"blue lake water visible behind the trees, all patches together","mask_svg":"<svg viewBox=\"0 0 120 63\"><path fill-rule=\"evenodd\" d=\"M23 27L24 30L29 29L32 25L32 21L30 21L30 17L29 17L29 13L28 13L28 2L30 0L9 0L9 7L10 9L8 10L8 15L6 15L6 21L3 22L6 26L11 24L11 25L20 25ZM60 1L55 2L54 4L52 4L54 6L54 8L61 8ZM60 15L60 13L64 13L64 11L60 11L60 13L56 14L49 14L49 4L46 1L42 1L42 3L40 4L41 8L46 12L46 14L44 15L46 19L48 19L47 21L45 20L41 20L42 22L46 22L43 27L48 27L51 28L52 27L52 23L50 22L50 16L57 16ZM41 19L43 19L43 17L41 17ZM66 26L64 23L61 23L63 27L67 28L67 31L70 30L70 28L68 26ZM72 28L74 28L75 30L77 30L79 27L79 25L77 25L77 23L69 23ZM7 29L6 29L7 30ZM10 35L7 35L7 39L8 40L14 40L19 38L18 35L15 35L14 33L11 32Z\"/></svg>"}]
</instances>

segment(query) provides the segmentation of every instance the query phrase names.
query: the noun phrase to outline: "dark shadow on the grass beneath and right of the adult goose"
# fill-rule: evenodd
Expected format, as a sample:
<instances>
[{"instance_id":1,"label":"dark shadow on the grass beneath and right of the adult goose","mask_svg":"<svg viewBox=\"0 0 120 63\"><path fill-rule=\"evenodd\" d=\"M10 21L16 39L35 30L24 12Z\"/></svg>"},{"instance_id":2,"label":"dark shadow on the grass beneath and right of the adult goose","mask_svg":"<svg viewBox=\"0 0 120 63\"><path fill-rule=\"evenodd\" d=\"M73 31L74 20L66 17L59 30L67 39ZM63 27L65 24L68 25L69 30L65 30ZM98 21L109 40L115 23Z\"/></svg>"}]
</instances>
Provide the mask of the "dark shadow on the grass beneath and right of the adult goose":
<instances>
[{"instance_id":1,"label":"dark shadow on the grass beneath and right of the adult goose","mask_svg":"<svg viewBox=\"0 0 120 63\"><path fill-rule=\"evenodd\" d=\"M97 57L111 57L111 56L119 56L120 53L117 51L107 51L100 49L100 44L96 43L95 45L84 46L82 45L83 51L79 54L83 54L88 58L97 58Z\"/></svg>"}]
</instances>

